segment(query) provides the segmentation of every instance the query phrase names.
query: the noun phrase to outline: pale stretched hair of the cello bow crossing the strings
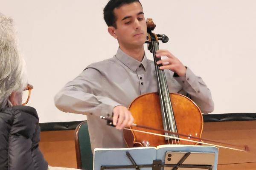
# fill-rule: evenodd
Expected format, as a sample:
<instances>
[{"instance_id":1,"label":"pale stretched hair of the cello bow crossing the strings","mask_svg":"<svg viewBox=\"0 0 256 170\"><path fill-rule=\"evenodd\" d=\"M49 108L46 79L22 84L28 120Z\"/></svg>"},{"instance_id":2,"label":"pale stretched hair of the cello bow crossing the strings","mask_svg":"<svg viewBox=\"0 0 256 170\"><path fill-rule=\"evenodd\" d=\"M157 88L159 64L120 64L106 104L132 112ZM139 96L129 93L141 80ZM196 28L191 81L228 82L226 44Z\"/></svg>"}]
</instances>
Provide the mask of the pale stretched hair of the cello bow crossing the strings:
<instances>
[{"instance_id":1,"label":"pale stretched hair of the cello bow crossing the strings","mask_svg":"<svg viewBox=\"0 0 256 170\"><path fill-rule=\"evenodd\" d=\"M167 135L162 135L162 134L157 134L157 133L151 133L151 132L146 132L146 131L141 131L141 130L135 130L135 129L128 129L128 128L124 128L124 129L125 129L125 130L135 131L135 132L147 133L147 134L156 135L156 136L163 136L163 137L172 138L172 139L184 140L184 141L188 141L188 142L194 142L194 143L200 143L200 144L207 144L207 145L209 145L209 146L222 147L222 148L225 148L225 149L239 150L239 151L247 152L246 150L241 150L241 149L237 149L237 148L233 148L233 147L226 147L226 146L222 146L222 145L218 145L218 144L210 144L210 143L206 143L206 142L200 142L200 141L194 141L194 140L190 140L190 139L177 138L177 137L174 137L174 136L167 136Z\"/></svg>"}]
</instances>

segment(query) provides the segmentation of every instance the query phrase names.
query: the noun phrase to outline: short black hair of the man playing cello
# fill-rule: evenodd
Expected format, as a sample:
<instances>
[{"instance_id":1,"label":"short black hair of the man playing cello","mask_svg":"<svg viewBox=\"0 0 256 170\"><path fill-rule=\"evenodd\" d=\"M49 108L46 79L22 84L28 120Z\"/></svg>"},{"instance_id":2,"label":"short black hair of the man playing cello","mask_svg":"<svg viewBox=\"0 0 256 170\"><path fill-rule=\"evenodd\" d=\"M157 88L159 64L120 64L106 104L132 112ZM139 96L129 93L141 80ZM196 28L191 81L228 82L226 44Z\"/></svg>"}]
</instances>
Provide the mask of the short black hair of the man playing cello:
<instances>
[{"instance_id":1,"label":"short black hair of the man playing cello","mask_svg":"<svg viewBox=\"0 0 256 170\"><path fill-rule=\"evenodd\" d=\"M120 6L123 6L125 4L130 4L130 3L134 3L134 2L140 3L140 0L110 0L110 1L108 1L107 5L105 6L105 8L103 10L104 20L107 23L107 25L113 26L116 28L116 16L114 14L114 9L119 8ZM140 5L141 5L141 3L140 3Z\"/></svg>"}]
</instances>

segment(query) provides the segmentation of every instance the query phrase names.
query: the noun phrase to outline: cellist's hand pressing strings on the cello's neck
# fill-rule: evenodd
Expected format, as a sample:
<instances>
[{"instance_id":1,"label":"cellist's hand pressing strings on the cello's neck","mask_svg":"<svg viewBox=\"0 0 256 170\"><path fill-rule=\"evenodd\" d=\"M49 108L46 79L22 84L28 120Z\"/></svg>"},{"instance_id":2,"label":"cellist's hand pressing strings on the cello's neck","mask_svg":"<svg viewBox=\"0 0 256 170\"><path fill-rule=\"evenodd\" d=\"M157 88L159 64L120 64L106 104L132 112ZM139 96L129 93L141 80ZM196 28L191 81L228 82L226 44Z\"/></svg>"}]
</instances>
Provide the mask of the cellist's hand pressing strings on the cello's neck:
<instances>
[{"instance_id":1,"label":"cellist's hand pressing strings on the cello's neck","mask_svg":"<svg viewBox=\"0 0 256 170\"><path fill-rule=\"evenodd\" d=\"M186 67L177 59L172 53L168 50L158 50L156 51L156 57L160 58L161 56L166 56L166 59L160 59L157 64L166 63L166 65L160 66L161 70L169 69L177 73L180 77L185 77Z\"/></svg>"}]
</instances>

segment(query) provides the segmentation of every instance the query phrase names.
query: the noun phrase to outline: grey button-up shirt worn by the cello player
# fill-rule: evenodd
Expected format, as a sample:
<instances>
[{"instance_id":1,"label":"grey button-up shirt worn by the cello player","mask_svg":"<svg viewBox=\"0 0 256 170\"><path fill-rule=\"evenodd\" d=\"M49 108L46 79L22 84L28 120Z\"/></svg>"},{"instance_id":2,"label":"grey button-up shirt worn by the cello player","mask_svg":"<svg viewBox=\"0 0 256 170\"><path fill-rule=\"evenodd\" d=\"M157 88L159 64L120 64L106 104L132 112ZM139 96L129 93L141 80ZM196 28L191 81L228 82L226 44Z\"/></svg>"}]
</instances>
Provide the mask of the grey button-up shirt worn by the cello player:
<instances>
[{"instance_id":1,"label":"grey button-up shirt worn by the cello player","mask_svg":"<svg viewBox=\"0 0 256 170\"><path fill-rule=\"evenodd\" d=\"M203 113L213 111L211 93L201 77L189 68L185 77L174 77L170 70L165 74L170 93L189 95ZM126 147L122 130L107 126L99 116L111 118L115 106L128 107L137 96L156 91L154 62L146 56L139 62L118 48L113 58L89 65L68 82L56 94L55 105L64 112L87 115L92 150Z\"/></svg>"}]
</instances>

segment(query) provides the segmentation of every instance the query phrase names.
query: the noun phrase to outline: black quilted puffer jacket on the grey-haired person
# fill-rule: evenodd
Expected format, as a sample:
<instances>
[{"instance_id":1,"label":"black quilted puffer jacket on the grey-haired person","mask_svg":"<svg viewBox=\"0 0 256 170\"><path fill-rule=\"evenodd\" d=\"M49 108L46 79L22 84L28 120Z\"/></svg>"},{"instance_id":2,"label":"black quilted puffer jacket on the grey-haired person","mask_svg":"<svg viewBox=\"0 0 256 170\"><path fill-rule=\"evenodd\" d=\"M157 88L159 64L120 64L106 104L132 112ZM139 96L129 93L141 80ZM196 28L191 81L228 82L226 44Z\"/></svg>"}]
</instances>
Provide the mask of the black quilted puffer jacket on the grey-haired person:
<instances>
[{"instance_id":1,"label":"black quilted puffer jacket on the grey-haired person","mask_svg":"<svg viewBox=\"0 0 256 170\"><path fill-rule=\"evenodd\" d=\"M39 141L35 108L14 106L0 111L0 170L47 170Z\"/></svg>"}]
</instances>

